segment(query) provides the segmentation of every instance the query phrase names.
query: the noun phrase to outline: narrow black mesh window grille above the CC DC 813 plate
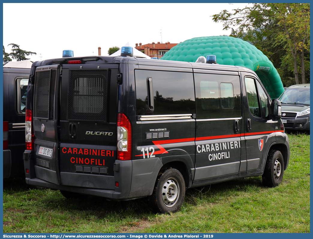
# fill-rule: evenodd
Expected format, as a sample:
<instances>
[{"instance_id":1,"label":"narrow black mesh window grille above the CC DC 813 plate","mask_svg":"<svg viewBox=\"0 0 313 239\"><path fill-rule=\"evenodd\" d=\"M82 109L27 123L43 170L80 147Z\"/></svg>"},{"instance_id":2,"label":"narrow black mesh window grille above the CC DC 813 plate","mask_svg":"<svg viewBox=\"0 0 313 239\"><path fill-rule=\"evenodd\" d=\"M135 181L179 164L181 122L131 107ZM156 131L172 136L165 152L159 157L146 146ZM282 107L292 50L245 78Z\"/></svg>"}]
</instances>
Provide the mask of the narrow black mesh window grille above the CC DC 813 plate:
<instances>
[{"instance_id":1,"label":"narrow black mesh window grille above the CC DC 813 plate","mask_svg":"<svg viewBox=\"0 0 313 239\"><path fill-rule=\"evenodd\" d=\"M35 75L35 118L48 119L49 117L50 72L51 70L37 71Z\"/></svg>"}]
</instances>

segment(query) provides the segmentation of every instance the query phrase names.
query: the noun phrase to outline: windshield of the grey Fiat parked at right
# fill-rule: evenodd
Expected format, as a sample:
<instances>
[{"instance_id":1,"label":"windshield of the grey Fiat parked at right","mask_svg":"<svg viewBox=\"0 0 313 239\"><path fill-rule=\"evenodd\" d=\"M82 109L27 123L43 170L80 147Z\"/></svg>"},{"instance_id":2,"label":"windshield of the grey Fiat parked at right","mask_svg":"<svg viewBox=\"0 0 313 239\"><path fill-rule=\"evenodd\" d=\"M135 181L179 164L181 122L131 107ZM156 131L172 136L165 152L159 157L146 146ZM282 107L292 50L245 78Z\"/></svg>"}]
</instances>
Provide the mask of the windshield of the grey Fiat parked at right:
<instances>
[{"instance_id":1,"label":"windshield of the grey Fiat parked at right","mask_svg":"<svg viewBox=\"0 0 313 239\"><path fill-rule=\"evenodd\" d=\"M282 103L310 104L310 89L286 89L279 100Z\"/></svg>"}]
</instances>

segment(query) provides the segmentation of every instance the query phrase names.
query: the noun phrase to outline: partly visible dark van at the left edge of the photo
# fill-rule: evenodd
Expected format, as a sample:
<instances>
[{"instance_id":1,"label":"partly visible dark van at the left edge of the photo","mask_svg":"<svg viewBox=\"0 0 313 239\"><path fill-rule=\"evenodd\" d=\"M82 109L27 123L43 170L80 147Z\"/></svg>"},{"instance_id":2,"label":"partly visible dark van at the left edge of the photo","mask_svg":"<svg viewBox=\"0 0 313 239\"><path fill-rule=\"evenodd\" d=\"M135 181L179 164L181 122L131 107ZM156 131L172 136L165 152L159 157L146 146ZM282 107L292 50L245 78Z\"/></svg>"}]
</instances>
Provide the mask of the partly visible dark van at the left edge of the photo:
<instances>
[{"instance_id":1,"label":"partly visible dark van at the left edge of the photo","mask_svg":"<svg viewBox=\"0 0 313 239\"><path fill-rule=\"evenodd\" d=\"M3 67L3 178L24 175L25 105L30 69Z\"/></svg>"}]
</instances>

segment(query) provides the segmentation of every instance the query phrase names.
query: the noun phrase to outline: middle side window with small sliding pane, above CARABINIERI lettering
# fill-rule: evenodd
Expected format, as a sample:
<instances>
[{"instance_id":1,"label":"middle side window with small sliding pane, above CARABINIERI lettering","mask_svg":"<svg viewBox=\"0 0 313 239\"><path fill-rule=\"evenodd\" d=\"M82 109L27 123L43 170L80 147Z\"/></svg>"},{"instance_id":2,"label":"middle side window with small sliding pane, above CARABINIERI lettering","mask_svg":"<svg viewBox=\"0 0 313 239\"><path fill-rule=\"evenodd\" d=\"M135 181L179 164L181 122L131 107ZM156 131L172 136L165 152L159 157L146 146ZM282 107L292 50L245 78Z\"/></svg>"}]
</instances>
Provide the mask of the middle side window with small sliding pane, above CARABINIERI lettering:
<instances>
[{"instance_id":1,"label":"middle side window with small sliding pane, above CARABINIERI lettering","mask_svg":"<svg viewBox=\"0 0 313 239\"><path fill-rule=\"evenodd\" d=\"M239 76L195 73L194 78L197 119L241 116Z\"/></svg>"}]
</instances>

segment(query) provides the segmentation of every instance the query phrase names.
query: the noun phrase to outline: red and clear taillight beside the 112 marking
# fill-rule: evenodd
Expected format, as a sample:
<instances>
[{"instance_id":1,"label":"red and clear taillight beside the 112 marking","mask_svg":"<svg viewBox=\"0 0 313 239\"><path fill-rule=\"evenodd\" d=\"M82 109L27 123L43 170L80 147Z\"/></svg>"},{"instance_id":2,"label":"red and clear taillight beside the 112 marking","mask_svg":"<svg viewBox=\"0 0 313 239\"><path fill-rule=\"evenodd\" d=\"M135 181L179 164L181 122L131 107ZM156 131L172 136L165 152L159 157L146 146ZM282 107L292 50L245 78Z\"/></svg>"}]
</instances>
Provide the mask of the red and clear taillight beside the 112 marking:
<instances>
[{"instance_id":1,"label":"red and clear taillight beside the 112 marking","mask_svg":"<svg viewBox=\"0 0 313 239\"><path fill-rule=\"evenodd\" d=\"M117 159L131 160L131 122L123 113L117 114Z\"/></svg>"}]
</instances>

